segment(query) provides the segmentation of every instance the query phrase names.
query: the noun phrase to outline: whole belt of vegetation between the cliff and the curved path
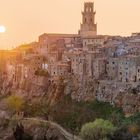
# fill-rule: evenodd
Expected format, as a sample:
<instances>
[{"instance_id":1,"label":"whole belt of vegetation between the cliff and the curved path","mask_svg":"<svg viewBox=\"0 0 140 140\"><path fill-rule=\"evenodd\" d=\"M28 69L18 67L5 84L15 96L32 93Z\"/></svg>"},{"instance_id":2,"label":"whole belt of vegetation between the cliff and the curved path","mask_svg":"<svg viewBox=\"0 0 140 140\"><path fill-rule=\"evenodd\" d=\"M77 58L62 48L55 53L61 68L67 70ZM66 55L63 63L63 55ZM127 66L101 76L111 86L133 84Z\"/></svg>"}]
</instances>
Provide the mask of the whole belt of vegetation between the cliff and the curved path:
<instances>
[{"instance_id":1,"label":"whole belt of vegetation between the cliff and the curved path","mask_svg":"<svg viewBox=\"0 0 140 140\"><path fill-rule=\"evenodd\" d=\"M72 100L70 95L64 95L49 106L44 99L24 101L12 95L6 99L6 103L8 111L11 110L13 113L21 111L24 112L23 117L54 121L72 134L81 135L85 140L90 140L90 136L91 139L99 136L108 140L131 140L140 134L140 113L125 117L121 108L105 102L96 100L77 102ZM6 124L13 122L11 119ZM98 131L96 127L102 131Z\"/></svg>"}]
</instances>

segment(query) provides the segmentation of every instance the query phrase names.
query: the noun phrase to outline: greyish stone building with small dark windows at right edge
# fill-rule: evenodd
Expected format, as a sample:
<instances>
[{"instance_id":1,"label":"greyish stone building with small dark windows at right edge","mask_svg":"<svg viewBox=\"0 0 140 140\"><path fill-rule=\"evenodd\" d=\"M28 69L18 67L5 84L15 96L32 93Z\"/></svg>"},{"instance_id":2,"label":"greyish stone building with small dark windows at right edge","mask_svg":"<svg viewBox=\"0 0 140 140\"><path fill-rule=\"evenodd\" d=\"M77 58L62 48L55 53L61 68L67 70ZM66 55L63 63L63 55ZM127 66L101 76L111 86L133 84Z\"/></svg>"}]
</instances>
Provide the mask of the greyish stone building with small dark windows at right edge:
<instances>
[{"instance_id":1,"label":"greyish stone building with small dark windows at right edge","mask_svg":"<svg viewBox=\"0 0 140 140\"><path fill-rule=\"evenodd\" d=\"M123 55L107 59L108 80L119 82L138 81L139 56ZM139 74L138 74L139 75Z\"/></svg>"}]
</instances>

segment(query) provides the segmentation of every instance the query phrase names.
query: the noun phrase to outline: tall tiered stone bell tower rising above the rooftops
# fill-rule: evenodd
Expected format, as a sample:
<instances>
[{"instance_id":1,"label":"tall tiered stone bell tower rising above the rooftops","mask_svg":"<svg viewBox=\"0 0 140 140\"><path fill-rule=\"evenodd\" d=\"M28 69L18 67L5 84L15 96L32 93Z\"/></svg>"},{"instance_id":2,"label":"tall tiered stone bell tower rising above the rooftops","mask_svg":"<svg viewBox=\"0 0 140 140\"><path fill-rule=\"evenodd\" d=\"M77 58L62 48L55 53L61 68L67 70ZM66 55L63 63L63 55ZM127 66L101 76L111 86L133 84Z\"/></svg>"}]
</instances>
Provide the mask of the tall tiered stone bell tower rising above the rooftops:
<instances>
[{"instance_id":1,"label":"tall tiered stone bell tower rising above the rooftops","mask_svg":"<svg viewBox=\"0 0 140 140\"><path fill-rule=\"evenodd\" d=\"M94 3L85 2L84 11L82 12L82 24L79 30L81 36L97 35L97 24L95 24Z\"/></svg>"}]
</instances>

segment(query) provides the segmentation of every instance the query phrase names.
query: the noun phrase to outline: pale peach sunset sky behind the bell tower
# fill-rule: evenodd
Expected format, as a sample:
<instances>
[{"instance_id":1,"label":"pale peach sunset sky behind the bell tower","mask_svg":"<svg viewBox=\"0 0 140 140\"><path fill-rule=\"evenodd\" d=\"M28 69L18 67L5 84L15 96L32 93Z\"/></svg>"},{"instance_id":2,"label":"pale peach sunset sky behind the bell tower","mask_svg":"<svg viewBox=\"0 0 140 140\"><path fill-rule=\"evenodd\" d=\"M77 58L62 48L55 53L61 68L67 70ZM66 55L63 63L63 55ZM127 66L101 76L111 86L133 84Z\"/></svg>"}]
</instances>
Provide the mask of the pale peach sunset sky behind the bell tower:
<instances>
[{"instance_id":1,"label":"pale peach sunset sky behind the bell tower","mask_svg":"<svg viewBox=\"0 0 140 140\"><path fill-rule=\"evenodd\" d=\"M92 0L87 0L92 1ZM0 0L0 48L38 40L43 33L77 33L86 0ZM140 32L140 0L94 0L98 34Z\"/></svg>"}]
</instances>

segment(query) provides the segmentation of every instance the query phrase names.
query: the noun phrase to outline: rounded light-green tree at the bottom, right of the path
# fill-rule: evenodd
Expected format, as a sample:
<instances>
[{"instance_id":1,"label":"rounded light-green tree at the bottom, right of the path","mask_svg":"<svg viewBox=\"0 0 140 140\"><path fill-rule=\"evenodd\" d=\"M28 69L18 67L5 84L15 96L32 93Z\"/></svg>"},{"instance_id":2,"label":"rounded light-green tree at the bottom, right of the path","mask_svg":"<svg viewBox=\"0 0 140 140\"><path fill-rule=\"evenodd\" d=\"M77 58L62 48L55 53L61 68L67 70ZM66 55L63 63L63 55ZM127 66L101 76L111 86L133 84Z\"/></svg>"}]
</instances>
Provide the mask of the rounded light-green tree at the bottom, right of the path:
<instances>
[{"instance_id":1,"label":"rounded light-green tree at the bottom, right of the path","mask_svg":"<svg viewBox=\"0 0 140 140\"><path fill-rule=\"evenodd\" d=\"M83 125L80 136L84 140L103 140L114 131L115 127L110 121L96 119L94 122Z\"/></svg>"}]
</instances>

